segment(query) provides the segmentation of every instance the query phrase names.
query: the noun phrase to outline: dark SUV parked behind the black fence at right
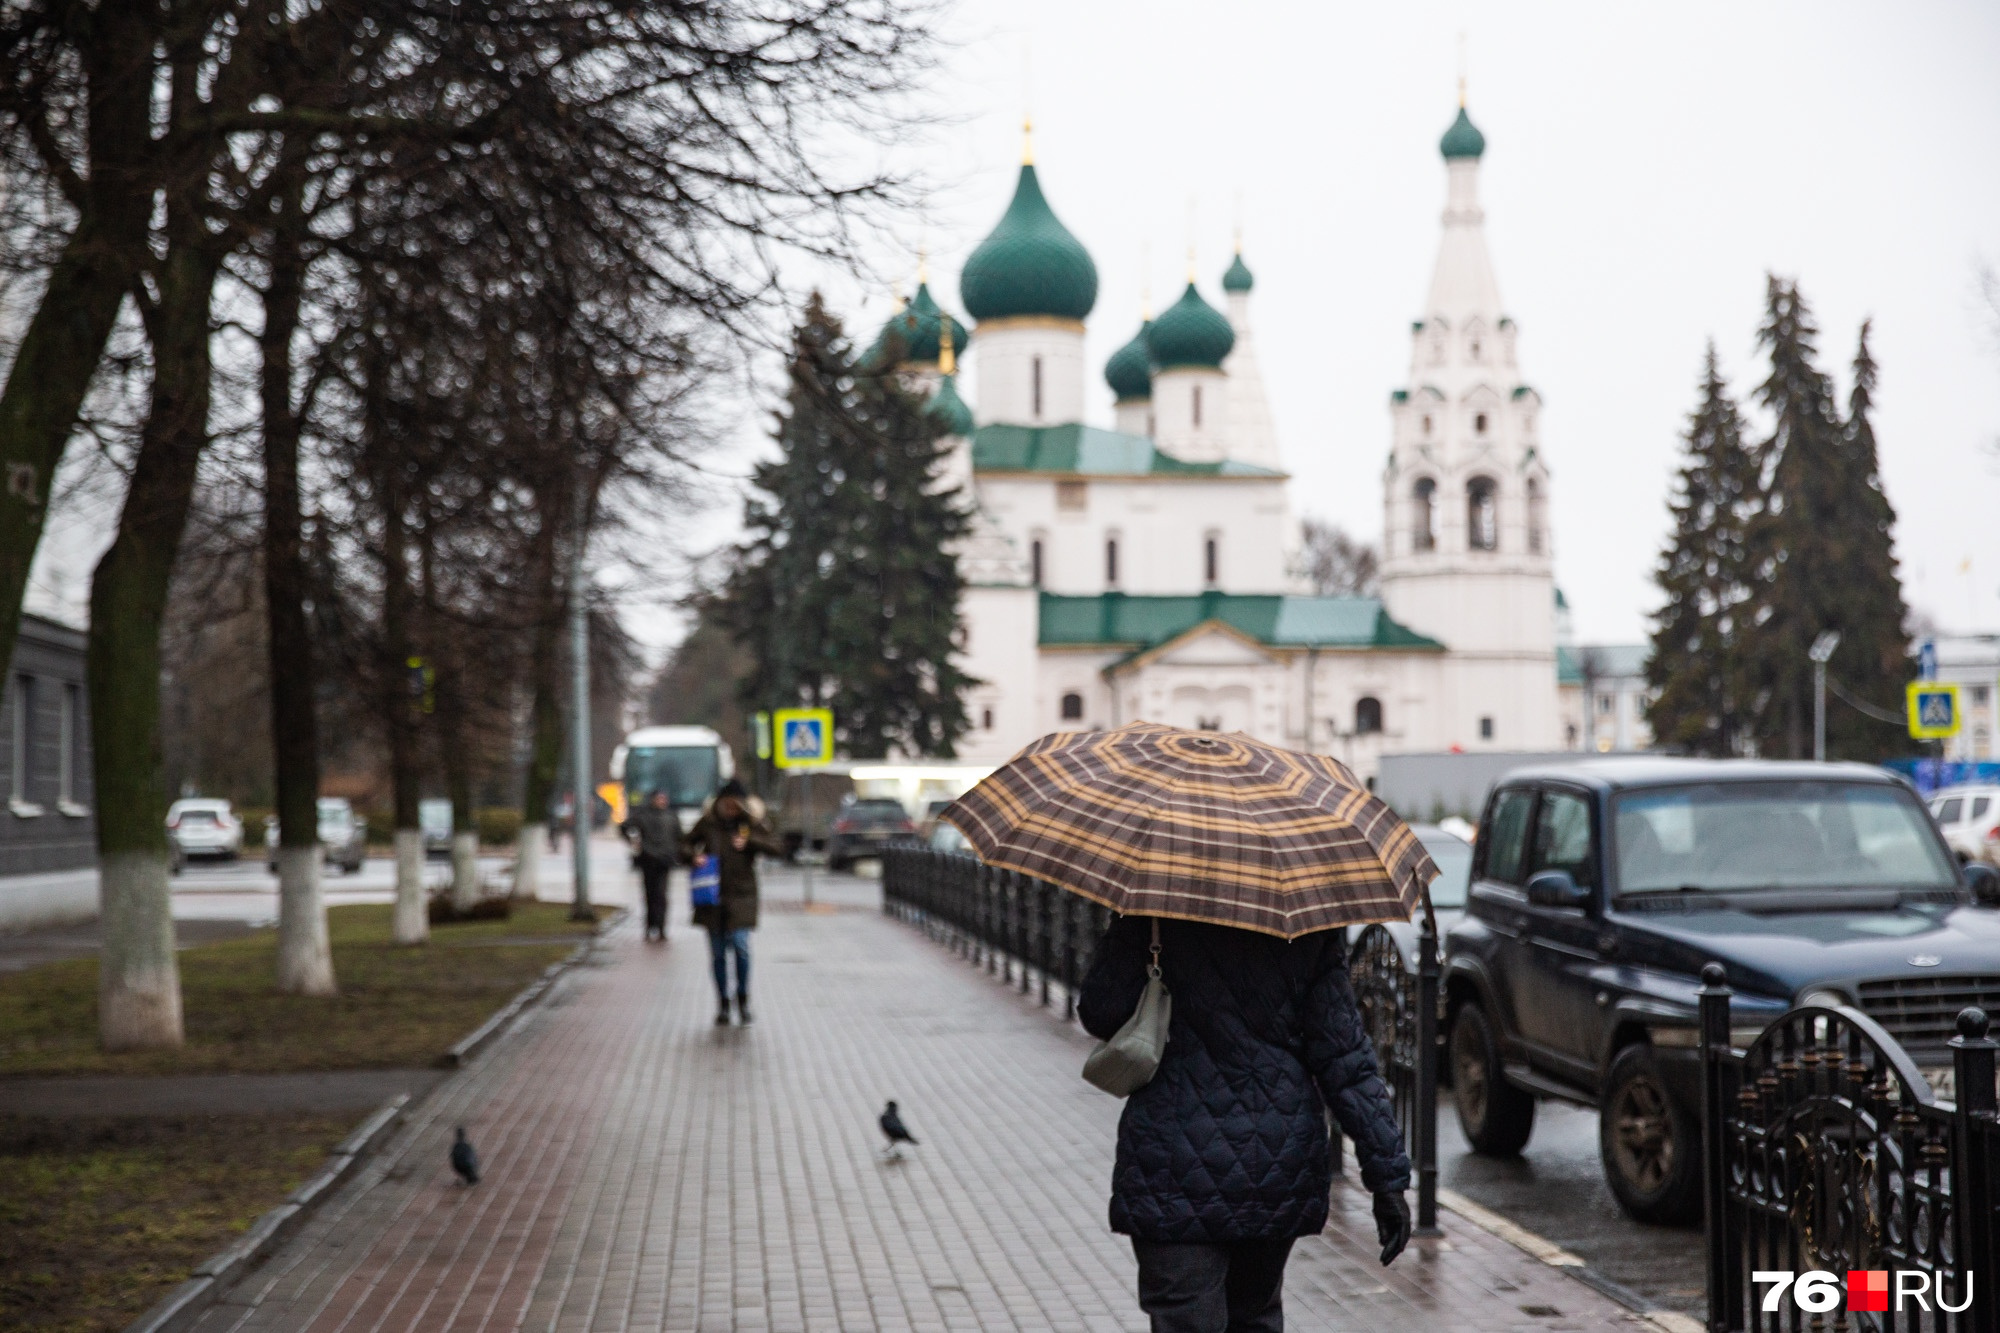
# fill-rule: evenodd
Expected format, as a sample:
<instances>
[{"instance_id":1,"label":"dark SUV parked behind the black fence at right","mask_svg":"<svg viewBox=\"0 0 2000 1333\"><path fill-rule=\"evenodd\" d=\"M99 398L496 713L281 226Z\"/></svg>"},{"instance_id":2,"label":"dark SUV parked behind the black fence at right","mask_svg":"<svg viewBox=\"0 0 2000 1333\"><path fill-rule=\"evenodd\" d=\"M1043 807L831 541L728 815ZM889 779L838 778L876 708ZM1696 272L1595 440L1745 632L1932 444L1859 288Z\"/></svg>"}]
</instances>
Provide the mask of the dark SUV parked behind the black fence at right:
<instances>
[{"instance_id":1,"label":"dark SUV parked behind the black fence at right","mask_svg":"<svg viewBox=\"0 0 2000 1333\"><path fill-rule=\"evenodd\" d=\"M1966 1005L2000 1005L2000 875L1960 869L1916 793L1862 765L1602 759L1518 769L1480 821L1446 933L1448 1073L1480 1153L1538 1097L1598 1107L1604 1179L1640 1221L1700 1209L1696 991L1730 1037L1852 1005L1944 1077Z\"/></svg>"}]
</instances>

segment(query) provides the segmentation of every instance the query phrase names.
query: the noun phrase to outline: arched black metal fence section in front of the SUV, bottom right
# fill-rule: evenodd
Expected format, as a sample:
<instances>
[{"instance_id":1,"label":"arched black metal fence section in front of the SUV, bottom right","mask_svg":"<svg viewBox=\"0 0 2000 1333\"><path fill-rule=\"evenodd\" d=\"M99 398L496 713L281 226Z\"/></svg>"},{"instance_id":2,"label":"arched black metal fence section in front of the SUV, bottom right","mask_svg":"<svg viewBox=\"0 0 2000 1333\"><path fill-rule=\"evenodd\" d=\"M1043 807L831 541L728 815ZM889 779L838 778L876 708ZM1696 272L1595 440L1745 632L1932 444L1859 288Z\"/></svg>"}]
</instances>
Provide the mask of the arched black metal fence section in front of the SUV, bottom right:
<instances>
[{"instance_id":1,"label":"arched black metal fence section in front of the SUV, bottom right","mask_svg":"<svg viewBox=\"0 0 2000 1333\"><path fill-rule=\"evenodd\" d=\"M1856 1009L1794 1009L1734 1051L1722 967L1702 981L1710 1331L1994 1333L1986 1013L1958 1015L1948 1103Z\"/></svg>"}]
</instances>

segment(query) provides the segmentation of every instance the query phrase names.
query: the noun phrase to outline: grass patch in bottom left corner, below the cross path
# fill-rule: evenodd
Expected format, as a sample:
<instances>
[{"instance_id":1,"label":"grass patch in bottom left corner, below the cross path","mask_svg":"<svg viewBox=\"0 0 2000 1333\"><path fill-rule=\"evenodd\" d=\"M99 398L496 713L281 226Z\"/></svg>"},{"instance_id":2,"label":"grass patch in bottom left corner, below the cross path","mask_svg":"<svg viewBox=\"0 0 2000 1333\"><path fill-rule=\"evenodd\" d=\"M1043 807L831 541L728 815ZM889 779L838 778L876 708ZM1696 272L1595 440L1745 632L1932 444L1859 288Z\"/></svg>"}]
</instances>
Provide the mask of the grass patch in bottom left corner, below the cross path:
<instances>
[{"instance_id":1,"label":"grass patch in bottom left corner, below the cross path","mask_svg":"<svg viewBox=\"0 0 2000 1333\"><path fill-rule=\"evenodd\" d=\"M114 1333L320 1169L352 1117L0 1117L0 1327Z\"/></svg>"}]
</instances>

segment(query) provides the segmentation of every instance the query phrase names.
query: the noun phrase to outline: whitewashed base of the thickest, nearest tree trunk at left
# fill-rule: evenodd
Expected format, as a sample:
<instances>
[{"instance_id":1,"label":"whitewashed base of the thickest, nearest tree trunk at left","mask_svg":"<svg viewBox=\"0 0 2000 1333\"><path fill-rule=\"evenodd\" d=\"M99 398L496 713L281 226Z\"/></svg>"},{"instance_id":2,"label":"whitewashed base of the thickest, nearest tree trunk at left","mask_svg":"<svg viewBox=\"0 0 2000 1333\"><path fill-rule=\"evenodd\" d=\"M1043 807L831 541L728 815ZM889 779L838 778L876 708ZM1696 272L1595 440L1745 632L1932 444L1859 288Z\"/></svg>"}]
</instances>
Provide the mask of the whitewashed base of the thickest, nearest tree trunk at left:
<instances>
[{"instance_id":1,"label":"whitewashed base of the thickest, nearest tree trunk at left","mask_svg":"<svg viewBox=\"0 0 2000 1333\"><path fill-rule=\"evenodd\" d=\"M174 957L174 891L166 855L108 853L98 863L98 1037L106 1051L178 1047L180 961Z\"/></svg>"}]
</instances>

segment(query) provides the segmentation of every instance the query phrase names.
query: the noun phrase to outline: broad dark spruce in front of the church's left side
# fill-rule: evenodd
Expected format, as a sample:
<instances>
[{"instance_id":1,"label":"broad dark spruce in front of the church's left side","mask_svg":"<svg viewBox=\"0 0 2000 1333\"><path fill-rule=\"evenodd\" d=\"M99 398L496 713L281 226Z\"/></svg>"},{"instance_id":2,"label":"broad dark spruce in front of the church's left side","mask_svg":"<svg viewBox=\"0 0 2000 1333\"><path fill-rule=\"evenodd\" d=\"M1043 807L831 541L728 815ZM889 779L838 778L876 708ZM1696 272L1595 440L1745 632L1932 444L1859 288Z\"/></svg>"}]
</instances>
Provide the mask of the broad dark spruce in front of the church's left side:
<instances>
[{"instance_id":1,"label":"broad dark spruce in front of the church's left side","mask_svg":"<svg viewBox=\"0 0 2000 1333\"><path fill-rule=\"evenodd\" d=\"M818 294L758 464L750 540L718 614L746 648L746 709L830 707L854 759L950 757L970 685L952 660L964 498L938 486L940 426L894 372L864 374Z\"/></svg>"}]
</instances>

